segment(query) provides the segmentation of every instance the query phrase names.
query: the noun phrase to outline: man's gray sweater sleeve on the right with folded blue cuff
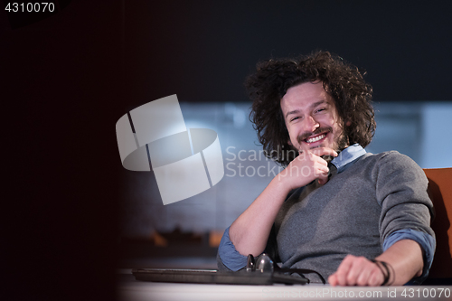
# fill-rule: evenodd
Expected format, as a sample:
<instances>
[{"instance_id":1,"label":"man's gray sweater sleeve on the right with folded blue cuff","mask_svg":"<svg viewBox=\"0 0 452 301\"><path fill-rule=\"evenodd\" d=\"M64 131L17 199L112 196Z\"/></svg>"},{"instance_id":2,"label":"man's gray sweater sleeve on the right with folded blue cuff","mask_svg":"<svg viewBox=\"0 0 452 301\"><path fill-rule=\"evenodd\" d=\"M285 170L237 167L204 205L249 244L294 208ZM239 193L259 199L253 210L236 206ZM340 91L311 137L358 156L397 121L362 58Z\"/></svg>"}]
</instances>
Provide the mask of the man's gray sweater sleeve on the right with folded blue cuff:
<instances>
[{"instance_id":1,"label":"man's gray sweater sleeve on the right with folded blue cuff","mask_svg":"<svg viewBox=\"0 0 452 301\"><path fill-rule=\"evenodd\" d=\"M397 240L419 243L424 256L424 270L418 279L428 275L436 241L430 228L433 204L428 198L428 180L410 157L389 152L376 165L377 201L381 205L379 221L381 245L388 249Z\"/></svg>"}]
</instances>

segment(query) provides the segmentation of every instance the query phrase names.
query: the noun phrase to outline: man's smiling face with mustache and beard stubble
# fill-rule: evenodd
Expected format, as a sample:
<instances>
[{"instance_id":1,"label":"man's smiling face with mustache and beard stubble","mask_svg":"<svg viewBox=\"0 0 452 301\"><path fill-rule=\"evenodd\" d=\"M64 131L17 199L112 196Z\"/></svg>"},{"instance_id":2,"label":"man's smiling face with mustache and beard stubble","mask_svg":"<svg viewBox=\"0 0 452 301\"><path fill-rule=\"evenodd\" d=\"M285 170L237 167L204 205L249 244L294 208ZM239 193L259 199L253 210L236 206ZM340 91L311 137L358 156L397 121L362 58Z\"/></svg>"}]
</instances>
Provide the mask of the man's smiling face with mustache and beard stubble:
<instances>
[{"instance_id":1,"label":"man's smiling face with mustache and beard stubble","mask_svg":"<svg viewBox=\"0 0 452 301\"><path fill-rule=\"evenodd\" d=\"M287 89L281 99L281 110L289 145L297 150L330 147L341 151L347 146L334 99L326 93L321 81L304 82Z\"/></svg>"}]
</instances>

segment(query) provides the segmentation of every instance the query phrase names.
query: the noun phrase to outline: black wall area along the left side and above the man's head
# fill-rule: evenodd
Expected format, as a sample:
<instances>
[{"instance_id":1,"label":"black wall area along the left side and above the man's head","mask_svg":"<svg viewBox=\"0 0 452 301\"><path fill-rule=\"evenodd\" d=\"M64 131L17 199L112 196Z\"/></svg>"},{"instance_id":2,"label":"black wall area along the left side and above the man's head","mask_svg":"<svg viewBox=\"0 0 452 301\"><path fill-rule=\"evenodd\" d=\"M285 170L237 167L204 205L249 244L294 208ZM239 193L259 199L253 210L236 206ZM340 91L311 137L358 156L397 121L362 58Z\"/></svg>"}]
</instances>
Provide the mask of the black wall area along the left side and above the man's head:
<instances>
[{"instance_id":1,"label":"black wall area along the left side and above the man's head","mask_svg":"<svg viewBox=\"0 0 452 301\"><path fill-rule=\"evenodd\" d=\"M377 100L450 99L449 15L447 1L72 1L12 29L2 8L2 248L17 296L114 294L114 128L128 110L174 93L244 101L256 61L315 49L365 68Z\"/></svg>"}]
</instances>

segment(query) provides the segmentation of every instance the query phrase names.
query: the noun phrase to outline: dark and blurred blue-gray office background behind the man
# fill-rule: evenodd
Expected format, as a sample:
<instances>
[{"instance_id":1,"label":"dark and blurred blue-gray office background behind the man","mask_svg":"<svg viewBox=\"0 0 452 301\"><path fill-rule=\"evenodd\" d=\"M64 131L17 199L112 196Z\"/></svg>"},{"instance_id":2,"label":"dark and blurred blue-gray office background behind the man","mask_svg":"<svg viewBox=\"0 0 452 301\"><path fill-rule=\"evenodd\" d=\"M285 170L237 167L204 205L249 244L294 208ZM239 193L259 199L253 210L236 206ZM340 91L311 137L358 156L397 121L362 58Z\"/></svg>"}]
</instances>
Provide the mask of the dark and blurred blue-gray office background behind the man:
<instances>
[{"instance_id":1,"label":"dark and blurred blue-gray office background behind the man","mask_svg":"<svg viewBox=\"0 0 452 301\"><path fill-rule=\"evenodd\" d=\"M278 173L243 89L260 60L341 55L374 90L367 150L452 166L448 1L60 0L52 14L8 3L0 75L13 197L2 230L8 275L33 296L114 298L117 268L214 267L222 231ZM225 176L164 206L152 172L122 167L115 124L172 94L187 127L218 133ZM95 293L74 293L75 282Z\"/></svg>"}]
</instances>

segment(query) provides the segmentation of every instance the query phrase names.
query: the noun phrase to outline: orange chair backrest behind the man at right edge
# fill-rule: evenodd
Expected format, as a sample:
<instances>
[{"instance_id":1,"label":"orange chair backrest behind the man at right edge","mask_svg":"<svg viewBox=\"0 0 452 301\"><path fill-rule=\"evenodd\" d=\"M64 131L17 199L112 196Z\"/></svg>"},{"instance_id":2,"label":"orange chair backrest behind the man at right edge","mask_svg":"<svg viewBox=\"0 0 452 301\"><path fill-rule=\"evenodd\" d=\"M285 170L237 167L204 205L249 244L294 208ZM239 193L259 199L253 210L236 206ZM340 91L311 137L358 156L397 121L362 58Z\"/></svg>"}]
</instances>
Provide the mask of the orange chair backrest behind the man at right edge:
<instances>
[{"instance_id":1,"label":"orange chair backrest behind the man at right edge","mask_svg":"<svg viewBox=\"0 0 452 301\"><path fill-rule=\"evenodd\" d=\"M428 193L435 207L431 227L437 237L437 250L429 278L452 277L452 168L424 169Z\"/></svg>"}]
</instances>

